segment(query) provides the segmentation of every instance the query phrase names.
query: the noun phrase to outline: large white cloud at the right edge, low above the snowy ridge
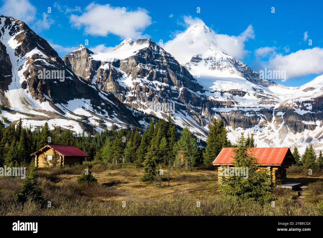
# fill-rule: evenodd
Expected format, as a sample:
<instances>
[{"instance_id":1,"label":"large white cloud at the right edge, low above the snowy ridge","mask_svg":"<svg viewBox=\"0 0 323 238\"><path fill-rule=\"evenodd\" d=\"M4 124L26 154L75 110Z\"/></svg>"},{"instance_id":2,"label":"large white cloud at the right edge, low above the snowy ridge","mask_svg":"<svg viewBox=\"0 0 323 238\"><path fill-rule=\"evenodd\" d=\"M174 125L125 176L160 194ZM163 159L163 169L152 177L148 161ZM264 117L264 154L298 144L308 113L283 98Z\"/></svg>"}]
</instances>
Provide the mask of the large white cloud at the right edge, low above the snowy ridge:
<instances>
[{"instance_id":1,"label":"large white cloud at the right edge, low above the snowy ridge","mask_svg":"<svg viewBox=\"0 0 323 238\"><path fill-rule=\"evenodd\" d=\"M286 70L287 78L323 73L323 48L299 50L288 55L276 54L269 59L268 68Z\"/></svg>"}]
</instances>

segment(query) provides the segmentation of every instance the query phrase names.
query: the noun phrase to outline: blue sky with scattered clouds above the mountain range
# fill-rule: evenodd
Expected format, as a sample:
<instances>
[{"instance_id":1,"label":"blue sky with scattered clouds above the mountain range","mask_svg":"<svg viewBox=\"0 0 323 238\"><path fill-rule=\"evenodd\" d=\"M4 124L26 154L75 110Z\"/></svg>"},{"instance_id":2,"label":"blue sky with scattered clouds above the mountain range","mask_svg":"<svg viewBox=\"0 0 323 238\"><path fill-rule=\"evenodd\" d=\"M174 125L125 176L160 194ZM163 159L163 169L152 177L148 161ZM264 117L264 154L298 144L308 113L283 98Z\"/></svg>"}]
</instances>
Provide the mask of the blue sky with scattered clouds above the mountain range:
<instances>
[{"instance_id":1,"label":"blue sky with scattered clouds above the mountain range","mask_svg":"<svg viewBox=\"0 0 323 238\"><path fill-rule=\"evenodd\" d=\"M247 2L5 0L0 14L25 21L60 56L85 40L96 50L109 50L126 37L167 42L188 27L184 17L191 17L216 34L239 36L252 29L243 42L246 53L232 56L256 72L286 68L291 77L278 83L299 86L323 74L322 1ZM122 8L126 15L118 13Z\"/></svg>"}]
</instances>

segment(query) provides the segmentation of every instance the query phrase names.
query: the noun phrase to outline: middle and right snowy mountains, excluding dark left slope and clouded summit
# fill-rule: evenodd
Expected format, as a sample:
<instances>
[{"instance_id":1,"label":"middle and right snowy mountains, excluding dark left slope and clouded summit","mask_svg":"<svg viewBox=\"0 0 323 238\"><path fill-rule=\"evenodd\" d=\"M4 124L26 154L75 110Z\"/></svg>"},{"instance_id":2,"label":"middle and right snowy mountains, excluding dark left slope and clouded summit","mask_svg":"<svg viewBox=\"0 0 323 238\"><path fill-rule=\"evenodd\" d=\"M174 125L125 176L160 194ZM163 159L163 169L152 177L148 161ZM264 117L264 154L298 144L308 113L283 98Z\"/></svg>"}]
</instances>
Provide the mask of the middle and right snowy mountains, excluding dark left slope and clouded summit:
<instances>
[{"instance_id":1,"label":"middle and right snowy mountains, excluding dark left slope and clouded summit","mask_svg":"<svg viewBox=\"0 0 323 238\"><path fill-rule=\"evenodd\" d=\"M129 54L124 53L127 49ZM89 52L83 47L82 51ZM299 88L277 85L222 51L213 49L212 55L204 58L195 55L185 67L149 39L128 38L110 53L84 54L89 59L87 64L82 58L72 59L73 52L63 57L65 61L76 65L89 65L89 60L100 62L98 69L92 68L97 72L93 76L94 85L113 93L131 108L158 117L167 117L167 113L150 110L149 105L175 102L174 122L188 126L197 135L205 136L204 129L215 117L225 121L232 141L246 132L254 133L260 146L298 146L304 140L313 141L321 136L317 121L322 115L315 106L320 105L320 99L311 97L321 89L311 85ZM88 68L81 72L85 70ZM197 80L189 71L198 75ZM204 76L205 72L211 77ZM230 72L232 76L224 79L217 76L218 72ZM277 88L285 90L286 95L273 93ZM290 103L299 91L309 98ZM312 110L318 112L299 114L298 110L307 110L308 103L314 103ZM320 143L317 146L323 145Z\"/></svg>"}]
</instances>

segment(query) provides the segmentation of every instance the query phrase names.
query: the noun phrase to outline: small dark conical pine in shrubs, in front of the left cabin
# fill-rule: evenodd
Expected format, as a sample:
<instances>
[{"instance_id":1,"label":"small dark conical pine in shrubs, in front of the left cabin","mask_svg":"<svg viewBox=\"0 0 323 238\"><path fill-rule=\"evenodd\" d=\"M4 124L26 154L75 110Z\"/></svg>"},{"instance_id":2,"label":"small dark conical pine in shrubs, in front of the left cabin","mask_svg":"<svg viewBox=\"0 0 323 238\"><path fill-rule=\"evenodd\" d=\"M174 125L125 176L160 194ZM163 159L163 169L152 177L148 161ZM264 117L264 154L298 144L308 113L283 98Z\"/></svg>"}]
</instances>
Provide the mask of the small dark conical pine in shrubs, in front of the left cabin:
<instances>
[{"instance_id":1,"label":"small dark conical pine in shrubs, in front of the left cabin","mask_svg":"<svg viewBox=\"0 0 323 238\"><path fill-rule=\"evenodd\" d=\"M22 184L21 191L16 193L14 199L16 202L26 202L27 199L44 203L44 199L41 195L40 183L38 182L38 172L34 161L29 165L28 173L25 181Z\"/></svg>"}]
</instances>

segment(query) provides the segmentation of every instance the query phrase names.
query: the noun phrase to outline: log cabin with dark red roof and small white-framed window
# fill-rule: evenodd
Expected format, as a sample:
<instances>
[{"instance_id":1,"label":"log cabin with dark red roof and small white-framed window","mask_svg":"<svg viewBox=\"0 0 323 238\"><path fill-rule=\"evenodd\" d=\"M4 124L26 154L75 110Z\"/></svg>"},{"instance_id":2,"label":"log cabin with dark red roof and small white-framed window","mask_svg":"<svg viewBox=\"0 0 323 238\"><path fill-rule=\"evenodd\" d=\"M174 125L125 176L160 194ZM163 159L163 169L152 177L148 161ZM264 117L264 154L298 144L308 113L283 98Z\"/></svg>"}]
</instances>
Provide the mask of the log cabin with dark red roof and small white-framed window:
<instances>
[{"instance_id":1,"label":"log cabin with dark red roof and small white-framed window","mask_svg":"<svg viewBox=\"0 0 323 238\"><path fill-rule=\"evenodd\" d=\"M89 155L73 145L45 145L30 156L35 155L36 167L64 166L82 164L83 158Z\"/></svg>"}]
</instances>

